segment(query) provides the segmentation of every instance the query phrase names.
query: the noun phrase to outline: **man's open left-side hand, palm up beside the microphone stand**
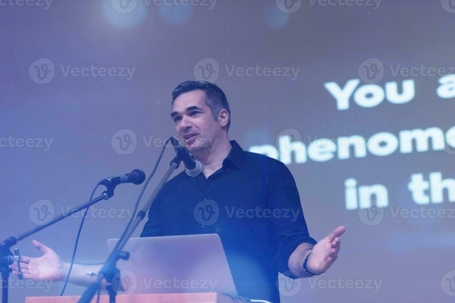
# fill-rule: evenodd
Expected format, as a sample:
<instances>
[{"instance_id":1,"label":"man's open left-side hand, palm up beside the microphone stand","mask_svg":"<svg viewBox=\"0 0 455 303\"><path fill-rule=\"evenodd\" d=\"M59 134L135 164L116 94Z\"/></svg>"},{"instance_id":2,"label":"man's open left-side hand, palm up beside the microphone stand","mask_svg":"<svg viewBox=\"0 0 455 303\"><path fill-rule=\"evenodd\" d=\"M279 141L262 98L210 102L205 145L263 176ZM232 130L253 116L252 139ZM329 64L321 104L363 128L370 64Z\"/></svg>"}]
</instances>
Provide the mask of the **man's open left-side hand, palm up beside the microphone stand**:
<instances>
[{"instance_id":1,"label":"man's open left-side hand, palm up beside the microphone stand","mask_svg":"<svg viewBox=\"0 0 455 303\"><path fill-rule=\"evenodd\" d=\"M25 279L62 281L65 277L64 262L51 248L33 240L33 246L39 249L43 255L39 258L21 256L20 269ZM10 265L13 275L18 276L17 262Z\"/></svg>"}]
</instances>

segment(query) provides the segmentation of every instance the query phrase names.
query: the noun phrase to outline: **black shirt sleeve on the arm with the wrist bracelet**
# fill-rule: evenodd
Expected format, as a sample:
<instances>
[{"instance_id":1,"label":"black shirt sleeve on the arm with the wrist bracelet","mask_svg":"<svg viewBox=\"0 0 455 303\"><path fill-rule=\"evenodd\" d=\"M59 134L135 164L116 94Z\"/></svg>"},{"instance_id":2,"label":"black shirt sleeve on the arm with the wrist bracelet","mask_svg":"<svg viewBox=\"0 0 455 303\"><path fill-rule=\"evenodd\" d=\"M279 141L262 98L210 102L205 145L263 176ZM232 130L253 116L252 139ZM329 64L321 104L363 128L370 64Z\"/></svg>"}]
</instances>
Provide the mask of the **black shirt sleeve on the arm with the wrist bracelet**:
<instances>
[{"instance_id":1,"label":"black shirt sleeve on the arm with the wrist bracelet","mask_svg":"<svg viewBox=\"0 0 455 303\"><path fill-rule=\"evenodd\" d=\"M280 161L273 167L266 190L268 207L276 211L276 215L272 213L271 217L277 247L273 265L278 272L292 277L288 261L293 251L302 243L315 245L317 242L309 236L298 189L291 172Z\"/></svg>"}]
</instances>

